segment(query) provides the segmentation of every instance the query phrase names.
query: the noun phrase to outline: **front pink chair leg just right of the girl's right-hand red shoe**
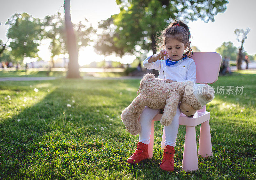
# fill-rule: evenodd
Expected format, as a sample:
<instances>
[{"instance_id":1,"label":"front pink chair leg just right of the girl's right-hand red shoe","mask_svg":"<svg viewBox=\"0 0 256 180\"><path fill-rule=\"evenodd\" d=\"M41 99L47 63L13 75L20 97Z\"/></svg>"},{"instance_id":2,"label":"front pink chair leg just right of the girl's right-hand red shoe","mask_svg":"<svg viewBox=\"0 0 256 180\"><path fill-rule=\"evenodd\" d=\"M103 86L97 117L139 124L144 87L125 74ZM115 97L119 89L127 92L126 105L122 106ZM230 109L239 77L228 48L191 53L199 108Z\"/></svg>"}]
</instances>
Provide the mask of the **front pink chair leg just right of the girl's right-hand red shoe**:
<instances>
[{"instance_id":1,"label":"front pink chair leg just right of the girl's right-hand red shoe","mask_svg":"<svg viewBox=\"0 0 256 180\"><path fill-rule=\"evenodd\" d=\"M195 126L186 126L182 169L186 172L198 169Z\"/></svg>"}]
</instances>

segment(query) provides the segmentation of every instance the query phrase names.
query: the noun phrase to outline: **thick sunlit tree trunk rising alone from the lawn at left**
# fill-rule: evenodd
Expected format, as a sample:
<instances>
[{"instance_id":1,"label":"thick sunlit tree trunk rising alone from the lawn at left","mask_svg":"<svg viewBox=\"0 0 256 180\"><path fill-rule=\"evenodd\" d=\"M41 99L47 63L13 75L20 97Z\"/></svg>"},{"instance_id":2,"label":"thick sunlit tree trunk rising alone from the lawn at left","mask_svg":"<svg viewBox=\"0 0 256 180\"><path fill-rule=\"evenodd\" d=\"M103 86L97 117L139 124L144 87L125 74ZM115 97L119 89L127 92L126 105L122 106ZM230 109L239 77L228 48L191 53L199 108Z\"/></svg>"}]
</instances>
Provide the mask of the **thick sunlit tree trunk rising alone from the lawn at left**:
<instances>
[{"instance_id":1,"label":"thick sunlit tree trunk rising alone from the lawn at left","mask_svg":"<svg viewBox=\"0 0 256 180\"><path fill-rule=\"evenodd\" d=\"M67 50L69 54L67 78L81 78L79 74L78 49L73 25L70 17L70 0L64 1L65 29L67 34Z\"/></svg>"}]
</instances>

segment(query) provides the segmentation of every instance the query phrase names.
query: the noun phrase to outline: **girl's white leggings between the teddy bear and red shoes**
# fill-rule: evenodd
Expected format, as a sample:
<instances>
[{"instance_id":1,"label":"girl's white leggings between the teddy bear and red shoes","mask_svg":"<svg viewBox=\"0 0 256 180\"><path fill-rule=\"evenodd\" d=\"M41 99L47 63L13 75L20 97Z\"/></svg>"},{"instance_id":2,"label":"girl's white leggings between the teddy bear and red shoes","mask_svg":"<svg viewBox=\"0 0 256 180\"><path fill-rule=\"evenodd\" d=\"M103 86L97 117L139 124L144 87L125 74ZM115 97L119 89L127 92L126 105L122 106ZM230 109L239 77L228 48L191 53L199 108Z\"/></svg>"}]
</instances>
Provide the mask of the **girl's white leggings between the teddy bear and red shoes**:
<instances>
[{"instance_id":1,"label":"girl's white leggings between the teddy bear and red shoes","mask_svg":"<svg viewBox=\"0 0 256 180\"><path fill-rule=\"evenodd\" d=\"M141 131L139 134L139 141L144 144L149 144L150 133L151 133L151 122L152 119L160 112L160 109L151 109L145 107L145 109L140 114L140 125ZM169 126L164 126L165 131L165 146L170 145L175 147L178 129L179 129L179 117L180 117L180 103L178 105L176 115L173 117L172 124Z\"/></svg>"}]
</instances>

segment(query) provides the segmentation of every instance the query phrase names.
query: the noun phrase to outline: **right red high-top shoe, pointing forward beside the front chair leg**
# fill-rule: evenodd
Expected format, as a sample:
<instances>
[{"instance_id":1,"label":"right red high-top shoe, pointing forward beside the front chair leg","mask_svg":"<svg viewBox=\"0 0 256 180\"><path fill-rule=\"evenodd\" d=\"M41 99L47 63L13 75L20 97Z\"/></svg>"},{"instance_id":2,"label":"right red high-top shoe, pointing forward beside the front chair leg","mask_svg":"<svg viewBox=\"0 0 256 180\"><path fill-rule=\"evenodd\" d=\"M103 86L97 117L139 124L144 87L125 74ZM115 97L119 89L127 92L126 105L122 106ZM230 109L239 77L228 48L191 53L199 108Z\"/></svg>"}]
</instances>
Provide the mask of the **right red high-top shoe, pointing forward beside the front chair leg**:
<instances>
[{"instance_id":1,"label":"right red high-top shoe, pointing forward beside the front chair leg","mask_svg":"<svg viewBox=\"0 0 256 180\"><path fill-rule=\"evenodd\" d=\"M164 146L164 155L163 155L163 160L160 165L160 168L165 170L165 171L174 171L174 160L173 160L173 155L175 151L172 146Z\"/></svg>"}]
</instances>

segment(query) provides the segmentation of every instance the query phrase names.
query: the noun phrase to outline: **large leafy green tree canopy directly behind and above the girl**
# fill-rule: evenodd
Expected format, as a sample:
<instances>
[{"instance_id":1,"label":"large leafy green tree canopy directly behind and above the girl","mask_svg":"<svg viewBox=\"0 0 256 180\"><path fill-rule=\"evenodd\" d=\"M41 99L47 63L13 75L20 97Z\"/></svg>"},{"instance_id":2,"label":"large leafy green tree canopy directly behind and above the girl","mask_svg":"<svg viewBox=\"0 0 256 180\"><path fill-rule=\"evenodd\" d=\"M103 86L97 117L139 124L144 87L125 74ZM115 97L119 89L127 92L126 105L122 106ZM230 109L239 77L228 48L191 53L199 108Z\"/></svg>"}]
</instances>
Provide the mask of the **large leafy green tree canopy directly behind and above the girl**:
<instances>
[{"instance_id":1,"label":"large leafy green tree canopy directly behind and above the girl","mask_svg":"<svg viewBox=\"0 0 256 180\"><path fill-rule=\"evenodd\" d=\"M226 10L228 1L116 0L116 3L120 13L113 15L113 20L106 20L111 24L106 23L105 26L105 30L110 29L112 35L101 44L118 48L119 52L112 49L116 54L128 52L138 57L150 49L156 53L156 33L164 29L172 19L184 22L196 19L214 21L216 14Z\"/></svg>"}]
</instances>

